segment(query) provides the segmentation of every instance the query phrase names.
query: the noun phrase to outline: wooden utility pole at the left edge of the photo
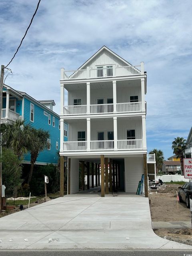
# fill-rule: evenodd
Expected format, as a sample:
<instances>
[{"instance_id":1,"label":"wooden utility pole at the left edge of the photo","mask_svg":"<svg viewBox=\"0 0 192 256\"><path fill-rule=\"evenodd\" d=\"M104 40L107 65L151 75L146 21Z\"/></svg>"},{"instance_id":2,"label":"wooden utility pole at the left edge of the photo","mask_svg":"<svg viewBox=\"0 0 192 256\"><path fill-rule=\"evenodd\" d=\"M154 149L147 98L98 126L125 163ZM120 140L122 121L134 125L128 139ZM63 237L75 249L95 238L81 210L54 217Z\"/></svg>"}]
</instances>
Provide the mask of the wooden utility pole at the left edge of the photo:
<instances>
[{"instance_id":1,"label":"wooden utility pole at the left edge of the photo","mask_svg":"<svg viewBox=\"0 0 192 256\"><path fill-rule=\"evenodd\" d=\"M1 109L2 109L2 98L3 98L3 80L4 80L4 65L1 65L1 76L0 76L0 128L1 128ZM2 143L2 141L1 141ZM0 147L2 148L2 147ZM2 152L0 152L0 155ZM2 162L0 161L0 212L2 210Z\"/></svg>"}]
</instances>

